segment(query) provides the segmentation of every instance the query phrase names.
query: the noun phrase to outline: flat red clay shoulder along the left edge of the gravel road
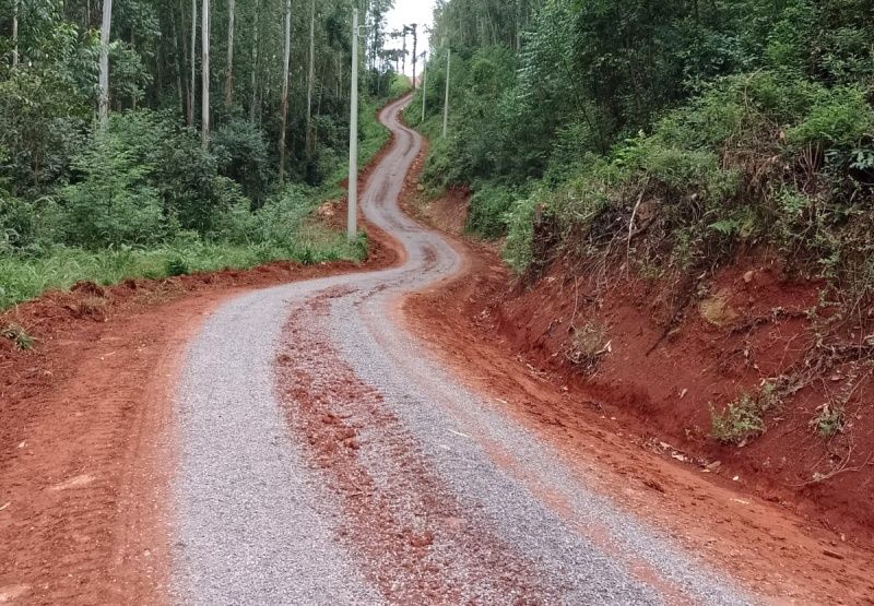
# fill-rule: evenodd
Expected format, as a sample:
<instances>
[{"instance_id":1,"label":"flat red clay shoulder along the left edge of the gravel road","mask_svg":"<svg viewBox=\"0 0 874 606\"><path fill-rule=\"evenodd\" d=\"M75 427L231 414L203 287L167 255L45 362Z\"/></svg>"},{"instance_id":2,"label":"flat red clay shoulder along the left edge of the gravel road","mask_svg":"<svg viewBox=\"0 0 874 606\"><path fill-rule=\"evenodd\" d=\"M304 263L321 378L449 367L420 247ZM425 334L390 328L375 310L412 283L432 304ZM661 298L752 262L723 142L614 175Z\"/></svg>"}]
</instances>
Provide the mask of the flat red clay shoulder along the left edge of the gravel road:
<instances>
[{"instance_id":1,"label":"flat red clay shoulder along the left edge of the gravel road","mask_svg":"<svg viewBox=\"0 0 874 606\"><path fill-rule=\"evenodd\" d=\"M368 234L363 264L83 283L0 314L36 340L0 338L0 604L168 601L168 390L189 336L243 290L397 263L397 242Z\"/></svg>"}]
</instances>

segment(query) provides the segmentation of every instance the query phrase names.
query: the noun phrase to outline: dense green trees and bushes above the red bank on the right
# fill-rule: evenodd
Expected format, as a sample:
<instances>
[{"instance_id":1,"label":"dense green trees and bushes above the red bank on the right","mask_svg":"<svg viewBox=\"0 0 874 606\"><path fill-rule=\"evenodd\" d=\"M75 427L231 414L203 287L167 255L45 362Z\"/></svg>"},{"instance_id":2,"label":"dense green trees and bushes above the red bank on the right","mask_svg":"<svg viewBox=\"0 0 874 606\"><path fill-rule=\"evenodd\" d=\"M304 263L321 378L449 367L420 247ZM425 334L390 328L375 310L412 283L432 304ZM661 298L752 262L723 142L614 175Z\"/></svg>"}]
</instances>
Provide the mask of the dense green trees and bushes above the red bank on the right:
<instances>
[{"instance_id":1,"label":"dense green trees and bushes above the red bank on the right","mask_svg":"<svg viewBox=\"0 0 874 606\"><path fill-rule=\"evenodd\" d=\"M516 272L618 256L681 280L767 250L845 309L870 301L874 2L445 0L435 16L408 110L434 140L424 178L473 191L469 231L506 237Z\"/></svg>"}]
</instances>

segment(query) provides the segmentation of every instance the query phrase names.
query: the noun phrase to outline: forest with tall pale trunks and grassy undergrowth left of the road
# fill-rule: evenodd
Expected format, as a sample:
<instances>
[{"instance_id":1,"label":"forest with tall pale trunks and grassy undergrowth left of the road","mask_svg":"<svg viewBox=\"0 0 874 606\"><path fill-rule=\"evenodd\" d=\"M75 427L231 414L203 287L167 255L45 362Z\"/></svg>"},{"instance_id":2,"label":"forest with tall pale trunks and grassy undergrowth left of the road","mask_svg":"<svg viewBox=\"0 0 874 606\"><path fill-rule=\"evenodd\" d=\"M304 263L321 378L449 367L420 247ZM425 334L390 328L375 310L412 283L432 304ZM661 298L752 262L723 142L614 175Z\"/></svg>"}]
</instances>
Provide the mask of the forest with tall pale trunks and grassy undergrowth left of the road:
<instances>
[{"instance_id":1,"label":"forest with tall pale trunks and grassy undergrowth left of the road","mask_svg":"<svg viewBox=\"0 0 874 606\"><path fill-rule=\"evenodd\" d=\"M309 218L346 169L353 3L0 7L0 308L81 280L365 253ZM408 85L391 7L358 7L362 162Z\"/></svg>"}]
</instances>

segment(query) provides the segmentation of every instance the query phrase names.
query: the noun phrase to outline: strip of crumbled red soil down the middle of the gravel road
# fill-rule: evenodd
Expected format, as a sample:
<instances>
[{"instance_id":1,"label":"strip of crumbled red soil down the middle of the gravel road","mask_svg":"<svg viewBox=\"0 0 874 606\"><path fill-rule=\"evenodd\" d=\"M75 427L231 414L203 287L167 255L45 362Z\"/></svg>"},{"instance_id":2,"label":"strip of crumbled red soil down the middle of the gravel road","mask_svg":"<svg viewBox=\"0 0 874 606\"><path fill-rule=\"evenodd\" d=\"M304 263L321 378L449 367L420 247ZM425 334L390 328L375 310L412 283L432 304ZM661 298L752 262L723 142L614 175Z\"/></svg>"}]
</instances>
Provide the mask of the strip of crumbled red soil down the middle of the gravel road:
<instances>
[{"instance_id":1,"label":"strip of crumbled red soil down the middle of the gravel road","mask_svg":"<svg viewBox=\"0 0 874 606\"><path fill-rule=\"evenodd\" d=\"M291 313L276 360L276 391L292 430L336 496L343 514L340 538L391 604L462 604L459 570L465 582L496 585L508 602L540 603L546 592L530 568L496 537L472 531L468 513L441 488L415 440L381 404L382 396L314 331L311 318L327 311L333 294ZM362 460L359 430L379 430L385 438L380 452L392 453L379 478ZM434 543L453 545L454 560L435 558Z\"/></svg>"}]
</instances>

